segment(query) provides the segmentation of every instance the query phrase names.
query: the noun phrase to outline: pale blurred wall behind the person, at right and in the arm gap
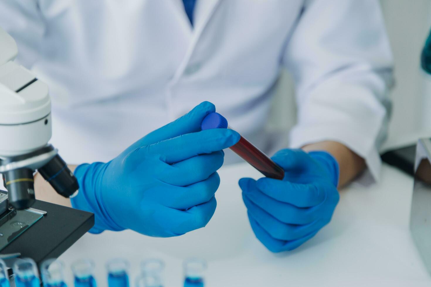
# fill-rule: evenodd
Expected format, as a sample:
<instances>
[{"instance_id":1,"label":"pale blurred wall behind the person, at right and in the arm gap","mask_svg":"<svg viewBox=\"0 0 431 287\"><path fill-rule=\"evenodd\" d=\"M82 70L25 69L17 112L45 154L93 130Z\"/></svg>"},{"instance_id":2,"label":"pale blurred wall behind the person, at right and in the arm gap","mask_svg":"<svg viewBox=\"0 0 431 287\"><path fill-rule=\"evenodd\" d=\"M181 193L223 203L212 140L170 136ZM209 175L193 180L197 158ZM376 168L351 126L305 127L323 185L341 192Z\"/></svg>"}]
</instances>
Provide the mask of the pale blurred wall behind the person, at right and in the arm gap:
<instances>
[{"instance_id":1,"label":"pale blurred wall behind the person, at right and in the arm gap","mask_svg":"<svg viewBox=\"0 0 431 287\"><path fill-rule=\"evenodd\" d=\"M420 69L420 54L431 30L431 0L381 0L381 4L397 81L391 93L394 106L385 146L397 146L431 136L431 76ZM293 126L293 83L287 73L280 79L274 103L269 127Z\"/></svg>"}]
</instances>

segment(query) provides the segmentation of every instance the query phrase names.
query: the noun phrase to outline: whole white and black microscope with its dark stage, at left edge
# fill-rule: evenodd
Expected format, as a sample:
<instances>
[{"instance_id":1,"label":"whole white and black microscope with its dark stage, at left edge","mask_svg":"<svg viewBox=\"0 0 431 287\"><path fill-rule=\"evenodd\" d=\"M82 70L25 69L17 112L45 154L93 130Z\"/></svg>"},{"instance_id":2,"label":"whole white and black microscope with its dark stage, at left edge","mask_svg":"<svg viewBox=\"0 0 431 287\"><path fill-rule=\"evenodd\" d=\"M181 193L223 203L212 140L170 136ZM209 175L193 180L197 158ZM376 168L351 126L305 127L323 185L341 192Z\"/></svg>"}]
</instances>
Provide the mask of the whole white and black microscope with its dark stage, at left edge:
<instances>
[{"instance_id":1,"label":"whole white and black microscope with its dark stage, at left edge","mask_svg":"<svg viewBox=\"0 0 431 287\"><path fill-rule=\"evenodd\" d=\"M84 235L94 215L35 198L35 172L66 198L77 194L79 185L48 144L48 86L13 62L17 53L15 41L0 28L0 173L7 189L0 191L0 258L18 254L41 262Z\"/></svg>"}]
</instances>

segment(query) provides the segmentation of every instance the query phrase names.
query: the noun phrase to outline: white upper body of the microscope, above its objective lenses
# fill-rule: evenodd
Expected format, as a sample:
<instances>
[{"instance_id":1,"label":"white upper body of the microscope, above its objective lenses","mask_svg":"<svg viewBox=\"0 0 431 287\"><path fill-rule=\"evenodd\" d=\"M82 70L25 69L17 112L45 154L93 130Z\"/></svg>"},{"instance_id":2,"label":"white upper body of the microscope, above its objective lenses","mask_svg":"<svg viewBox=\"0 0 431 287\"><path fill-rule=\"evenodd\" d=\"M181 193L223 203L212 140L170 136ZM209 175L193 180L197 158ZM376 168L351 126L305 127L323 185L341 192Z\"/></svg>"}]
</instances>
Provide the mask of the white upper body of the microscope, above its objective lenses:
<instances>
[{"instance_id":1,"label":"white upper body of the microscope, above its objective lenses","mask_svg":"<svg viewBox=\"0 0 431 287\"><path fill-rule=\"evenodd\" d=\"M0 157L34 151L51 138L48 86L13 62L17 53L0 28Z\"/></svg>"}]
</instances>

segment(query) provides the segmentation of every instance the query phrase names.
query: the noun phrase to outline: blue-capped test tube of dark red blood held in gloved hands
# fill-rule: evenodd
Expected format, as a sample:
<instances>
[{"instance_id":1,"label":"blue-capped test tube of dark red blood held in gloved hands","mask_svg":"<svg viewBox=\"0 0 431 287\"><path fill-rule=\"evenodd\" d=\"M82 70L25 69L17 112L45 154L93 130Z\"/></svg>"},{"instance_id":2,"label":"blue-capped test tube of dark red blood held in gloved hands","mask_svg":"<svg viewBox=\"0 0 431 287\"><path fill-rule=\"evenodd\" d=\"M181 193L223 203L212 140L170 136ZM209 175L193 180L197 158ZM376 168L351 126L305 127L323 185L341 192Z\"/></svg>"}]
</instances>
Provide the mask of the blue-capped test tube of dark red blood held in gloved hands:
<instances>
[{"instance_id":1,"label":"blue-capped test tube of dark red blood held in gloved hands","mask_svg":"<svg viewBox=\"0 0 431 287\"><path fill-rule=\"evenodd\" d=\"M202 130L220 128L233 130L228 125L228 121L225 117L219 113L208 114L203 119L201 128ZM241 136L239 142L232 145L230 149L256 168L256 170L259 170L264 176L273 179L284 178L284 170L243 136Z\"/></svg>"}]
</instances>

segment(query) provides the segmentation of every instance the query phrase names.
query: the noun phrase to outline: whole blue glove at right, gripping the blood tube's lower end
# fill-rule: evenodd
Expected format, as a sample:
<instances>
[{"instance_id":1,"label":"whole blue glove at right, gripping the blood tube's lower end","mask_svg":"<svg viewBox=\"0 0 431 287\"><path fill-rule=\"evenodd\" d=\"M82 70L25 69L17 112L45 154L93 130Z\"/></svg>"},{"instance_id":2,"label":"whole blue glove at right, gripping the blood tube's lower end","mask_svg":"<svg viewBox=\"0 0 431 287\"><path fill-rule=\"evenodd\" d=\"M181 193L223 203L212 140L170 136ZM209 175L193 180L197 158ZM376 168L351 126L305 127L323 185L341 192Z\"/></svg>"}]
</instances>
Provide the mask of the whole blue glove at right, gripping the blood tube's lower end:
<instances>
[{"instance_id":1,"label":"whole blue glove at right, gripping the blood tube's lower end","mask_svg":"<svg viewBox=\"0 0 431 287\"><path fill-rule=\"evenodd\" d=\"M272 252L292 250L331 220L339 194L338 164L325 151L284 149L273 157L284 179L240 179L256 237Z\"/></svg>"}]
</instances>

